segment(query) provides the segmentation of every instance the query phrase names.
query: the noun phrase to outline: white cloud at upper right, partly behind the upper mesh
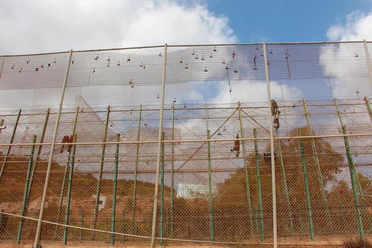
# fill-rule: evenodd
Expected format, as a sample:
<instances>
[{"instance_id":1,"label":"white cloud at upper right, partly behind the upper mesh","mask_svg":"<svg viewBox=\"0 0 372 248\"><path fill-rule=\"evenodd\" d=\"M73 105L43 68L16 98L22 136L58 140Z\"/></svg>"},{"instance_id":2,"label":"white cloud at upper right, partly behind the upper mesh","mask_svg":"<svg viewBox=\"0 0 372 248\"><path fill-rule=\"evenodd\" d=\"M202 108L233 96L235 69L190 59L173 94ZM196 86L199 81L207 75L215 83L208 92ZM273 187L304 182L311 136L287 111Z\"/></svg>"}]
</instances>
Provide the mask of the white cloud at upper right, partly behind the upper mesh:
<instances>
[{"instance_id":1,"label":"white cloud at upper right, partly behind the upper mesh","mask_svg":"<svg viewBox=\"0 0 372 248\"><path fill-rule=\"evenodd\" d=\"M355 10L346 15L346 23L333 25L327 37L334 41L372 40L372 12ZM371 52L370 52L371 54ZM319 63L335 97L355 96L359 91L371 95L366 55L363 43L324 44L320 48Z\"/></svg>"}]
</instances>

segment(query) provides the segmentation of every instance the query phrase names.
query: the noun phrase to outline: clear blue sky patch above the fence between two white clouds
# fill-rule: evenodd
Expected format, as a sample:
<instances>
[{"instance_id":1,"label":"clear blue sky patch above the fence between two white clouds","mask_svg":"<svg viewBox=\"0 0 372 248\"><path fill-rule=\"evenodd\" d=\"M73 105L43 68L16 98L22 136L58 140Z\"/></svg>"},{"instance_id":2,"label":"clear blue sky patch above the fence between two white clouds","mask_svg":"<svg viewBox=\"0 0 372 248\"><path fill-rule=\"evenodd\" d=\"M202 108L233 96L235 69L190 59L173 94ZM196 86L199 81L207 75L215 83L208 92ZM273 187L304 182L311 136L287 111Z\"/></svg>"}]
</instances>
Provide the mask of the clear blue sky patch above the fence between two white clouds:
<instances>
[{"instance_id":1,"label":"clear blue sky patch above the fence between two white clouds","mask_svg":"<svg viewBox=\"0 0 372 248\"><path fill-rule=\"evenodd\" d=\"M208 9L226 15L238 41L327 41L327 29L344 24L354 10L371 12L371 0L209 0Z\"/></svg>"}]
</instances>

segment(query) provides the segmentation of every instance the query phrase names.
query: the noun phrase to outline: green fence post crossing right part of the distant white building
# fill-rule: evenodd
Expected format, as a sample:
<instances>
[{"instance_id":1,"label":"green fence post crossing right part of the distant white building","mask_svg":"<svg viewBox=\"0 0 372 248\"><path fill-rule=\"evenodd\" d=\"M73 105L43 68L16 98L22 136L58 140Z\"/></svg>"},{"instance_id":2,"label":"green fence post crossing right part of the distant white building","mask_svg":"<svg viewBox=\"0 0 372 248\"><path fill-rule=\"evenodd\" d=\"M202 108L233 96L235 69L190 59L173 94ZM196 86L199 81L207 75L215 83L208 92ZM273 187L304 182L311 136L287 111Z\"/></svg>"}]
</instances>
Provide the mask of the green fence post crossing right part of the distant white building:
<instances>
[{"instance_id":1,"label":"green fence post crossing right part of the distant white building","mask_svg":"<svg viewBox=\"0 0 372 248\"><path fill-rule=\"evenodd\" d=\"M207 139L211 137L211 131L209 130L208 123L208 103L205 104L206 108L206 127L207 127ZM214 240L214 225L213 225L213 192L212 192L212 159L211 159L211 142L207 141L207 152L208 152L208 195L209 195L209 233L211 241Z\"/></svg>"}]
</instances>

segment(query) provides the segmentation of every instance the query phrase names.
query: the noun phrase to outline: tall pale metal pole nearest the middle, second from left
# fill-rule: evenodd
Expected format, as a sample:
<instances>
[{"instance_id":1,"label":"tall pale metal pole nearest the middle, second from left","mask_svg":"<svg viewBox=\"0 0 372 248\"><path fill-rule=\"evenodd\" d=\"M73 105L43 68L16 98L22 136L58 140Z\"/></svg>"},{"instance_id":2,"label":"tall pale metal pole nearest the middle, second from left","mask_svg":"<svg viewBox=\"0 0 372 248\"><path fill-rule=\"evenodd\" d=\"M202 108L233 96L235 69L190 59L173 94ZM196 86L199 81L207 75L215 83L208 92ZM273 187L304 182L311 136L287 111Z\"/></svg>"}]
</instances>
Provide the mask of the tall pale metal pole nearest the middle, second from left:
<instances>
[{"instance_id":1,"label":"tall pale metal pole nearest the middle, second from left","mask_svg":"<svg viewBox=\"0 0 372 248\"><path fill-rule=\"evenodd\" d=\"M153 226L152 226L152 232L151 232L151 248L155 248L156 218L157 218L157 212L158 212L159 173L160 173L160 157L161 157L161 135L162 135L162 132L163 132L163 112L164 112L166 61L167 61L167 44L165 43L164 44L162 84L161 84L159 136L158 136L158 151L157 151L156 175L155 175L155 193L154 193Z\"/></svg>"}]
</instances>

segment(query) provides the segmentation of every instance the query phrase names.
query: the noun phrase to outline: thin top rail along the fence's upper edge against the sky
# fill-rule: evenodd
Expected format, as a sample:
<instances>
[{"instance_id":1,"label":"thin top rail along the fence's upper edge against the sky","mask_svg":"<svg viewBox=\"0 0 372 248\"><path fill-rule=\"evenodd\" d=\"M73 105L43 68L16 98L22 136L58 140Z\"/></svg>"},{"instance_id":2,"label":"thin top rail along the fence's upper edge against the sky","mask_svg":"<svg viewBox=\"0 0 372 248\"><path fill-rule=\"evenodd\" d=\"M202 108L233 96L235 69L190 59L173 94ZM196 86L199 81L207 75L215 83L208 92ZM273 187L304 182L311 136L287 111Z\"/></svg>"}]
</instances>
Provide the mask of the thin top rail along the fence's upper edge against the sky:
<instances>
[{"instance_id":1,"label":"thin top rail along the fence's upper edge against the sky","mask_svg":"<svg viewBox=\"0 0 372 248\"><path fill-rule=\"evenodd\" d=\"M340 44L340 43L363 43L364 41L308 41L308 42L266 42L266 45L296 45L296 44ZM372 41L367 41L371 43ZM167 47L207 47L207 46L248 46L248 45L262 45L263 42L254 43L226 43L226 44L181 44L181 45L167 45ZM142 46L142 47L127 47L127 48L107 48L107 49L93 49L93 50L77 50L74 53L86 52L101 52L113 50L129 50L129 49L145 49L145 48L159 48L158 46ZM53 54L67 54L69 51L52 52L52 53L39 53L39 54L21 54L21 55L0 55L0 57L13 57L13 56L32 56L32 55L53 55Z\"/></svg>"}]
</instances>

